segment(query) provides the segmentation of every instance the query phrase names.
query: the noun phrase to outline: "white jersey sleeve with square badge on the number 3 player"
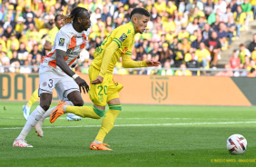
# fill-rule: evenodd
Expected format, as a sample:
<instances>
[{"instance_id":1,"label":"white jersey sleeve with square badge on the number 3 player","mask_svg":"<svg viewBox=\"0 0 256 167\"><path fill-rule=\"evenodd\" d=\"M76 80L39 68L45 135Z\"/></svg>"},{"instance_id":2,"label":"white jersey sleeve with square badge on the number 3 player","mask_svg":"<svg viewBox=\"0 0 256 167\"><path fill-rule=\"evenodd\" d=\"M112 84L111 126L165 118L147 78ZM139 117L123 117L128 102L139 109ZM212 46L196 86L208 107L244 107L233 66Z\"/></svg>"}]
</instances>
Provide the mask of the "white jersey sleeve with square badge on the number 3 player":
<instances>
[{"instance_id":1,"label":"white jersey sleeve with square badge on the number 3 player","mask_svg":"<svg viewBox=\"0 0 256 167\"><path fill-rule=\"evenodd\" d=\"M55 37L55 49L62 50L64 52L67 51L68 46L70 44L71 37L65 34L63 31L59 31Z\"/></svg>"}]
</instances>

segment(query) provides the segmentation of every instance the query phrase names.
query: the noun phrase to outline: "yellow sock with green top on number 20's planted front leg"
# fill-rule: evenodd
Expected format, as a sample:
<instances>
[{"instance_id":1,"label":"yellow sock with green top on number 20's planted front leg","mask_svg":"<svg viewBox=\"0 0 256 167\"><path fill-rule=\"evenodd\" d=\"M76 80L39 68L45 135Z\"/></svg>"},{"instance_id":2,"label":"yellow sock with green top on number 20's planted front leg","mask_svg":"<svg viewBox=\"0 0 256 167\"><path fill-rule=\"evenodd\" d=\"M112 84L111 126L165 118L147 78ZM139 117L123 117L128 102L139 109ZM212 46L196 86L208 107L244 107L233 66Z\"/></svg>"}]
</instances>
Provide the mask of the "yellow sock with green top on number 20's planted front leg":
<instances>
[{"instance_id":1,"label":"yellow sock with green top on number 20's planted front leg","mask_svg":"<svg viewBox=\"0 0 256 167\"><path fill-rule=\"evenodd\" d=\"M120 107L120 109L117 107ZM119 110L113 110L111 108L116 108ZM122 110L121 105L114 106L114 107L110 106L109 111L105 114L105 117L103 118L103 123L102 123L101 129L95 138L96 141L103 142L107 133L109 133L113 129L113 123L114 123L116 117L119 115L119 113L121 113L121 110Z\"/></svg>"}]
</instances>

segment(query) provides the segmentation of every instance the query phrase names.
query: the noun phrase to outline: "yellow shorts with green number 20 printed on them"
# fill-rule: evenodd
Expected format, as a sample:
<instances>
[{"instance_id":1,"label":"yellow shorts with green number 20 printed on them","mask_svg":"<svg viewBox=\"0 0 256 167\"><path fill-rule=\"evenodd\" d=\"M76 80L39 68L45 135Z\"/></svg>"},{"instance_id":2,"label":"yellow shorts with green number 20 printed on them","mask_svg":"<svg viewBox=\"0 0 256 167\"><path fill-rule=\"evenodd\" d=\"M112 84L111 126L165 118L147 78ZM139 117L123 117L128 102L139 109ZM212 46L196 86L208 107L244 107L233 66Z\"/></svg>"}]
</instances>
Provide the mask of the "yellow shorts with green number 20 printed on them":
<instances>
[{"instance_id":1,"label":"yellow shorts with green number 20 printed on them","mask_svg":"<svg viewBox=\"0 0 256 167\"><path fill-rule=\"evenodd\" d=\"M99 73L100 71L93 65L89 67L89 95L94 104L105 106L110 100L119 98L119 92L123 89L123 85L113 81L113 74L105 74L103 83L92 84L92 81L97 78Z\"/></svg>"}]
</instances>

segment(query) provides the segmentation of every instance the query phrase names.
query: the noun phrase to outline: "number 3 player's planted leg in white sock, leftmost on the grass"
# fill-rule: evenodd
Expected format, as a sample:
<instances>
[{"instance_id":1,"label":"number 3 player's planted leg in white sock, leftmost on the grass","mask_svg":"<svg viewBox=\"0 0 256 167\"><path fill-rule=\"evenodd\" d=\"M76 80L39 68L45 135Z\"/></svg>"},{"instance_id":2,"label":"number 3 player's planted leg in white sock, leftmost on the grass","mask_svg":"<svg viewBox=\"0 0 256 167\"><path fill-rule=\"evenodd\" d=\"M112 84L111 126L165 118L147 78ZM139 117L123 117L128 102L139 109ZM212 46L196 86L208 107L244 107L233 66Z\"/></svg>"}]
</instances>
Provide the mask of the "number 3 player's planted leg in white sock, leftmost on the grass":
<instances>
[{"instance_id":1,"label":"number 3 player's planted leg in white sock, leftmost on the grass","mask_svg":"<svg viewBox=\"0 0 256 167\"><path fill-rule=\"evenodd\" d=\"M40 94L40 105L36 107L33 113L29 116L22 132L15 139L13 146L16 147L33 147L25 142L25 137L32 130L34 125L42 118L45 111L48 110L52 102L52 93L41 93Z\"/></svg>"}]
</instances>

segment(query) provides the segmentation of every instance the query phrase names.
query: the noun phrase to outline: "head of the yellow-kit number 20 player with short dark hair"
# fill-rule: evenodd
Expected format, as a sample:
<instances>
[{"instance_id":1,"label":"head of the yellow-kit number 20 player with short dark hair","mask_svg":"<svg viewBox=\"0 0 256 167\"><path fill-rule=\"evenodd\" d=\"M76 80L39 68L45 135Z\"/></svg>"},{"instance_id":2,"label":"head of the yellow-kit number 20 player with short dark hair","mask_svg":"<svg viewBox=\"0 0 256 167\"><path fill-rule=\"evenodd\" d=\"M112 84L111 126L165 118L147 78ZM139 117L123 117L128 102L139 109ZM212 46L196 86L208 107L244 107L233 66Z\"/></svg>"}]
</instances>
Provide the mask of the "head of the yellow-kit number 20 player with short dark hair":
<instances>
[{"instance_id":1,"label":"head of the yellow-kit number 20 player with short dark hair","mask_svg":"<svg viewBox=\"0 0 256 167\"><path fill-rule=\"evenodd\" d=\"M135 33L143 33L150 20L150 13L141 7L134 8L130 20L133 22Z\"/></svg>"}]
</instances>

